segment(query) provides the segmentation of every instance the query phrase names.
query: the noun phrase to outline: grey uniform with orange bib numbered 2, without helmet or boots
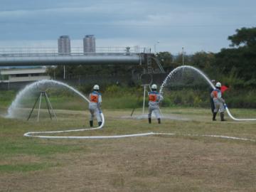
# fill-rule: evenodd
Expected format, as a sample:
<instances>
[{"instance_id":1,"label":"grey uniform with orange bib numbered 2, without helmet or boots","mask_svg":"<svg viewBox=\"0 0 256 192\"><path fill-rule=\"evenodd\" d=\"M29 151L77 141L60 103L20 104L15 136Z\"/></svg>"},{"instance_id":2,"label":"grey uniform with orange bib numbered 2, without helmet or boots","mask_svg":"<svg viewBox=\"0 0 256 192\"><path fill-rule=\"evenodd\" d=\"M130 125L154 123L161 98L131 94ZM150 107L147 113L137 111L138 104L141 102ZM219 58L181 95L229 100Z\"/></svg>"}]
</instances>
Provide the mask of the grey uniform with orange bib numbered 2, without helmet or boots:
<instances>
[{"instance_id":1,"label":"grey uniform with orange bib numbered 2, without helmet or boots","mask_svg":"<svg viewBox=\"0 0 256 192\"><path fill-rule=\"evenodd\" d=\"M100 116L100 105L102 102L102 96L99 92L93 91L89 95L90 103L89 103L89 110L90 110L90 121L93 121L93 117L96 116L97 122L102 122L101 116Z\"/></svg>"}]
</instances>

